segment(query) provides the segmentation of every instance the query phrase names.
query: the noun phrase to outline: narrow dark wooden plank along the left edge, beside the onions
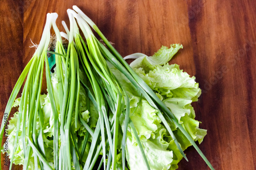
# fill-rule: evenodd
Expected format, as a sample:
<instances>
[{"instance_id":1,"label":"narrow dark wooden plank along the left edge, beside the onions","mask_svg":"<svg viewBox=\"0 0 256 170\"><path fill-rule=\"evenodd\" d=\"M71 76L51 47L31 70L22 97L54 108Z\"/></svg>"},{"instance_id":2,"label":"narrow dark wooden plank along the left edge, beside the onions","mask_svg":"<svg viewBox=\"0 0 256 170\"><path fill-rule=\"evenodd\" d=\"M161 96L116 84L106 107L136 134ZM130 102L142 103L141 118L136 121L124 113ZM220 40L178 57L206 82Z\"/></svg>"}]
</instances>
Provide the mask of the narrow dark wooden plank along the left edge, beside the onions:
<instances>
[{"instance_id":1,"label":"narrow dark wooden plank along the left edge, beside the onions","mask_svg":"<svg viewBox=\"0 0 256 170\"><path fill-rule=\"evenodd\" d=\"M23 70L23 3L0 1L0 23L0 119L2 124L5 106L12 88ZM15 111L13 109L10 116ZM5 141L4 139L2 144ZM10 162L9 160L6 162L2 152L1 162L2 169L9 169ZM13 169L19 169L19 167Z\"/></svg>"}]
</instances>

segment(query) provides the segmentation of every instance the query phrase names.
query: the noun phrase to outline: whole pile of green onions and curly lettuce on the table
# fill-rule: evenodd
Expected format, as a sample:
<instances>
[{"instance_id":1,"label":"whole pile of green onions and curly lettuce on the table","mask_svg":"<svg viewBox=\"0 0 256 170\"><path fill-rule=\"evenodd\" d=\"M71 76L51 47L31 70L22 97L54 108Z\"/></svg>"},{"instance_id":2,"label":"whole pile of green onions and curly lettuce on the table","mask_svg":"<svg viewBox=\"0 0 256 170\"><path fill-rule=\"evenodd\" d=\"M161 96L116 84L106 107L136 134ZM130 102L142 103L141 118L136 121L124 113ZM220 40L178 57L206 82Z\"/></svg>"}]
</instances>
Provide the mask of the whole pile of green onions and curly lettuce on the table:
<instances>
[{"instance_id":1,"label":"whole pile of green onions and curly lettuce on the table","mask_svg":"<svg viewBox=\"0 0 256 170\"><path fill-rule=\"evenodd\" d=\"M177 169L190 145L214 169L195 143L206 135L191 106L201 94L198 83L168 64L182 45L162 46L152 57L127 56L136 59L129 65L95 23L73 9L67 11L70 29L62 21L66 33L56 26L58 15L47 14L41 41L6 106L8 116L19 107L8 125L10 169L12 163L24 169ZM48 94L41 94L44 68Z\"/></svg>"}]
</instances>

